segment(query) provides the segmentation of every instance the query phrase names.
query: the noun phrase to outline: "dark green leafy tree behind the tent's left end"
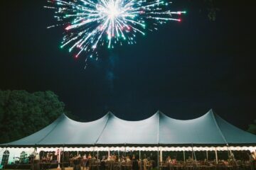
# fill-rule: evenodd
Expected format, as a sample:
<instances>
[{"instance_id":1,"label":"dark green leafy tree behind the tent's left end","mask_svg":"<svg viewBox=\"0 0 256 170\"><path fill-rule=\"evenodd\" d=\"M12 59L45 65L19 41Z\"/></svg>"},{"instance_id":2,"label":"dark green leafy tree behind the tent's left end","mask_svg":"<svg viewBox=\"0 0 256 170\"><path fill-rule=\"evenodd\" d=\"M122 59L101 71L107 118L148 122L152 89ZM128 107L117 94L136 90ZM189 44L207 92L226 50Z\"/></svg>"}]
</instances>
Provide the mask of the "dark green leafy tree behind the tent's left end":
<instances>
[{"instance_id":1,"label":"dark green leafy tree behind the tent's left end","mask_svg":"<svg viewBox=\"0 0 256 170\"><path fill-rule=\"evenodd\" d=\"M64 113L64 107L52 91L0 90L0 143L41 130Z\"/></svg>"}]
</instances>

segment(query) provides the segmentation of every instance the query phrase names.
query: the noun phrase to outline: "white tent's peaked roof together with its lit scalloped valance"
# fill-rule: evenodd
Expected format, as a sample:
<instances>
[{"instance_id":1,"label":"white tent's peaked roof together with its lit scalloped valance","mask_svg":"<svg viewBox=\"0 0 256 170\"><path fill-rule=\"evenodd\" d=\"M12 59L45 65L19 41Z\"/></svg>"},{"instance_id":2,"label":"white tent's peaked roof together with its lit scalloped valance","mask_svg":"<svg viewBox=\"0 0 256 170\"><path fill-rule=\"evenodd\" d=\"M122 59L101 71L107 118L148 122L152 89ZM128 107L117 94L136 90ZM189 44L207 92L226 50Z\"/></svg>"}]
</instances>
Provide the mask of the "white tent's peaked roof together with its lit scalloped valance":
<instances>
[{"instance_id":1,"label":"white tent's peaked roof together with its lit scalloped valance","mask_svg":"<svg viewBox=\"0 0 256 170\"><path fill-rule=\"evenodd\" d=\"M200 118L176 120L160 111L150 118L127 121L112 113L81 123L65 114L46 128L21 140L0 145L0 160L9 152L9 163L26 152L40 151L217 151L256 149L256 135L245 132L208 111ZM185 154L184 154L185 155Z\"/></svg>"}]
</instances>

